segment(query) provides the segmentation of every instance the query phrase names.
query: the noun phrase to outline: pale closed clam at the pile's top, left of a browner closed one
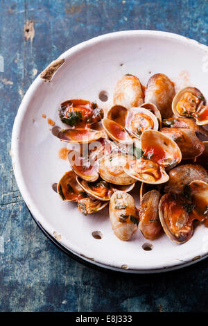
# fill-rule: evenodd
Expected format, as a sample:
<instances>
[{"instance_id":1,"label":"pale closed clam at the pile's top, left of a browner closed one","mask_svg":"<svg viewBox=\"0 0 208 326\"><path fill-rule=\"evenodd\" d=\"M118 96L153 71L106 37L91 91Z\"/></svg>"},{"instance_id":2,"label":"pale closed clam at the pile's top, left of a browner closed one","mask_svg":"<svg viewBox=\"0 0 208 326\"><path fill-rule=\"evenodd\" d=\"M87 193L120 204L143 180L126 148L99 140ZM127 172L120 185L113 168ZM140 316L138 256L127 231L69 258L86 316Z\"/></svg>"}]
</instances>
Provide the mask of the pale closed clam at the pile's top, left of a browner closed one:
<instances>
[{"instance_id":1,"label":"pale closed clam at the pile's top, left of a browner closed one","mask_svg":"<svg viewBox=\"0 0 208 326\"><path fill-rule=\"evenodd\" d=\"M130 109L144 103L144 93L139 81L134 75L126 74L118 80L114 88L114 105Z\"/></svg>"}]
</instances>

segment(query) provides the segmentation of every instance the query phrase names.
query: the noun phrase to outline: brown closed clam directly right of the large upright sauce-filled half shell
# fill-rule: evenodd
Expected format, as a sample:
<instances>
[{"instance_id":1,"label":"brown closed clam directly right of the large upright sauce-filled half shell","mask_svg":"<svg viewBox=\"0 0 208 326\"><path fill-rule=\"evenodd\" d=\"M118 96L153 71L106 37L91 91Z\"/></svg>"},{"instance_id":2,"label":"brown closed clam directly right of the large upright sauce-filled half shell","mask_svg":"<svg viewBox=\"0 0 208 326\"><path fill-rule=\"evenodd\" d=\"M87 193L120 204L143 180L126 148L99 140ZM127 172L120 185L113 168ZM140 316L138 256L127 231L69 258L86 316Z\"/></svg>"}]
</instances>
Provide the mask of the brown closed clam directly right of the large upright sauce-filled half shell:
<instances>
[{"instance_id":1,"label":"brown closed clam directly right of the large upright sauce-filled half shell","mask_svg":"<svg viewBox=\"0 0 208 326\"><path fill-rule=\"evenodd\" d=\"M198 157L205 150L205 145L191 129L162 128L160 131L177 143L182 153L182 160Z\"/></svg>"}]
</instances>

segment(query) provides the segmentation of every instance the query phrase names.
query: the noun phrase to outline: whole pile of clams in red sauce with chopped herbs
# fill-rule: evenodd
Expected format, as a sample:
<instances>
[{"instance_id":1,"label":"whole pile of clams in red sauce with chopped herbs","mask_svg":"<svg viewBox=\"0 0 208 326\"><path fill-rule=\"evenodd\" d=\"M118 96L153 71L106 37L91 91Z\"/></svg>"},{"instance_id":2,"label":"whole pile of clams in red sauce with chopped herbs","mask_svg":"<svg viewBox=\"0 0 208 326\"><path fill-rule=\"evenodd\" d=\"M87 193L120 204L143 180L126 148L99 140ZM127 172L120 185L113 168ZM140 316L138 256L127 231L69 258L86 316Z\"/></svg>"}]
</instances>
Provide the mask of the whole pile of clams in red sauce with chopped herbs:
<instances>
[{"instance_id":1,"label":"whole pile of clams in red sauce with chopped herbs","mask_svg":"<svg viewBox=\"0 0 208 326\"><path fill-rule=\"evenodd\" d=\"M208 105L199 89L175 94L164 74L146 87L126 74L105 112L72 99L59 116L67 128L55 136L72 144L70 169L58 182L62 200L85 215L110 204L112 230L123 241L139 229L146 239L166 234L182 244L199 223L208 227Z\"/></svg>"}]
</instances>

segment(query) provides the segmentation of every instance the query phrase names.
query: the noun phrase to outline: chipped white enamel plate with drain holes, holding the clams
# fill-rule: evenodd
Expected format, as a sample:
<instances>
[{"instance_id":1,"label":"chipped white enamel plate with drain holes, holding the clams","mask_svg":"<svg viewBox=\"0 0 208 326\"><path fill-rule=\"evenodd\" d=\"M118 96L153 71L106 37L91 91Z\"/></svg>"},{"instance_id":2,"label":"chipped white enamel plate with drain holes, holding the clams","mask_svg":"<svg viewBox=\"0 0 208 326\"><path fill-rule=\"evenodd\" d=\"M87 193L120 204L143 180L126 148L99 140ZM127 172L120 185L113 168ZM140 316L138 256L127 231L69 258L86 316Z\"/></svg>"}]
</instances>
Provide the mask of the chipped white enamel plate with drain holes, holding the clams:
<instances>
[{"instance_id":1,"label":"chipped white enamel plate with drain holes, holding the clams","mask_svg":"<svg viewBox=\"0 0 208 326\"><path fill-rule=\"evenodd\" d=\"M83 216L76 203L63 202L52 189L67 161L58 151L64 147L51 132L47 119L60 126L58 105L70 98L96 101L108 108L116 80L135 74L146 85L151 75L166 74L176 91L198 87L208 100L208 48L179 35L156 31L125 31L96 37L63 53L37 76L17 112L12 132L12 163L17 184L35 219L73 254L105 268L129 273L153 273L193 264L208 254L208 228L200 225L183 245L164 234L147 241L141 232L123 242L109 221L108 207ZM104 92L107 101L99 94ZM104 97L105 97L104 96ZM106 99L106 98L105 98ZM139 194L139 185L133 191ZM102 239L93 237L101 232ZM152 250L144 250L146 243Z\"/></svg>"}]
</instances>

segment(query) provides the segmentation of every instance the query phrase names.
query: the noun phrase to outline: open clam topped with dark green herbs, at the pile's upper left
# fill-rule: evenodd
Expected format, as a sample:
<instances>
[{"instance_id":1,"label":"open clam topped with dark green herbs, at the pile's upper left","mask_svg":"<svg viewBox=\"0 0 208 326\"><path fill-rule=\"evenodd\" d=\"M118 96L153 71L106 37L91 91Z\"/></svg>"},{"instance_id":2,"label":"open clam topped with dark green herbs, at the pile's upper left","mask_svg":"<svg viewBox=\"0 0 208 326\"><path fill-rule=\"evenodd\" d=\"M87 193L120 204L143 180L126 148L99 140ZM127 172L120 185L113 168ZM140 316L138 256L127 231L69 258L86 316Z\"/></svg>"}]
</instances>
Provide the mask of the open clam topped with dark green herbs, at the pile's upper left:
<instances>
[{"instance_id":1,"label":"open clam topped with dark green herbs, at the pile's upper left","mask_svg":"<svg viewBox=\"0 0 208 326\"><path fill-rule=\"evenodd\" d=\"M104 112L94 102L71 99L60 104L59 116L61 121L70 127L85 128L101 121Z\"/></svg>"}]
</instances>

